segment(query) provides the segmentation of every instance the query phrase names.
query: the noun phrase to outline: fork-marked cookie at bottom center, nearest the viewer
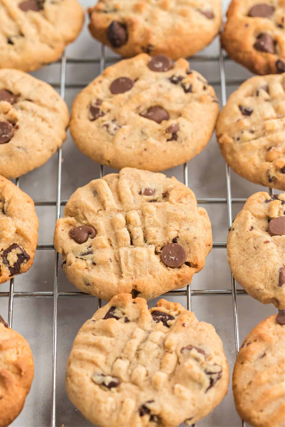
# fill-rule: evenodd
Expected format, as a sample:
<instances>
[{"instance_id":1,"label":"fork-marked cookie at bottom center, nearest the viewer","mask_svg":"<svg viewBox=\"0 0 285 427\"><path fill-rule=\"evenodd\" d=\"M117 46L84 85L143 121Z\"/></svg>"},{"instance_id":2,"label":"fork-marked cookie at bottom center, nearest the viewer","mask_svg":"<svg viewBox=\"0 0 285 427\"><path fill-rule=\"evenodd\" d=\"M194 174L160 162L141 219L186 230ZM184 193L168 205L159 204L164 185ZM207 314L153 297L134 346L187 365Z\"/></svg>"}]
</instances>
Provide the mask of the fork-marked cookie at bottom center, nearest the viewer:
<instances>
[{"instance_id":1,"label":"fork-marked cookie at bottom center, nearest the viewer","mask_svg":"<svg viewBox=\"0 0 285 427\"><path fill-rule=\"evenodd\" d=\"M191 425L226 395L229 367L214 327L194 313L119 294L79 330L65 383L95 425Z\"/></svg>"}]
</instances>

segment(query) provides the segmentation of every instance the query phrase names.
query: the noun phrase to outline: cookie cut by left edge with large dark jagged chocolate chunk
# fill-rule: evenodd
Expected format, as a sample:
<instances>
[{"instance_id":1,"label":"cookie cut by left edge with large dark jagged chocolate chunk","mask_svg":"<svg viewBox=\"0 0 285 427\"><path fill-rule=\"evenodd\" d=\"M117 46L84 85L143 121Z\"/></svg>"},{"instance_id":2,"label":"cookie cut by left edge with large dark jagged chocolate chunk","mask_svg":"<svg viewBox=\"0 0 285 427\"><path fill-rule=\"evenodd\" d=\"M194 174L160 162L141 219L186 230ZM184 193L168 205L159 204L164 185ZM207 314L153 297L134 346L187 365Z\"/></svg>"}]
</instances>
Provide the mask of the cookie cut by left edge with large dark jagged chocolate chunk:
<instances>
[{"instance_id":1,"label":"cookie cut by left edge with large dark jagged chocolate chunk","mask_svg":"<svg viewBox=\"0 0 285 427\"><path fill-rule=\"evenodd\" d=\"M0 175L0 284L29 270L37 243L34 202Z\"/></svg>"}]
</instances>

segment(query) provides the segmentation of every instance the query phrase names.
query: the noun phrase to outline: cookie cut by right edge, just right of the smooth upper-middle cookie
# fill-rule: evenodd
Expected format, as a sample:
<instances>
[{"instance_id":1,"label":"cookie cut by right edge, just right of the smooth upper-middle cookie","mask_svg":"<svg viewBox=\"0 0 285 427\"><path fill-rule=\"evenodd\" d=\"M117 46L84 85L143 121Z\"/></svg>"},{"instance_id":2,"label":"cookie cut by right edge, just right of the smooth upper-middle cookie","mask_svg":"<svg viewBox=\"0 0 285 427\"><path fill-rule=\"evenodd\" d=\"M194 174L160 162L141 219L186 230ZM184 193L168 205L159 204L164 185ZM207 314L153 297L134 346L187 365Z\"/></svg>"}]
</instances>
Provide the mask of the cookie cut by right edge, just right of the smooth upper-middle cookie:
<instances>
[{"instance_id":1,"label":"cookie cut by right edge, just right of the smooth upper-middle cookie","mask_svg":"<svg viewBox=\"0 0 285 427\"><path fill-rule=\"evenodd\" d=\"M256 76L229 97L217 120L226 162L244 178L285 190L284 74Z\"/></svg>"}]
</instances>

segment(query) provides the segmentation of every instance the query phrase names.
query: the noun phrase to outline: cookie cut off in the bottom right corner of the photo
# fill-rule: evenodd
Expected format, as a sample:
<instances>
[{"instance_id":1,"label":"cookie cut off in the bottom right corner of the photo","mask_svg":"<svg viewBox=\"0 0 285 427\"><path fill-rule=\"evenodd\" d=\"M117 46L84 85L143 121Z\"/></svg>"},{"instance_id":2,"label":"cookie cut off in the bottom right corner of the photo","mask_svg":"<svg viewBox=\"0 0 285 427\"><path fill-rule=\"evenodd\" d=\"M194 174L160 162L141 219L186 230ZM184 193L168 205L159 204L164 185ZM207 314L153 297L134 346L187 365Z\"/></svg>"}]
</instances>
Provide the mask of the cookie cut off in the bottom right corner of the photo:
<instances>
[{"instance_id":1,"label":"cookie cut off in the bottom right corner of the photo","mask_svg":"<svg viewBox=\"0 0 285 427\"><path fill-rule=\"evenodd\" d=\"M260 322L244 339L235 362L235 406L256 427L284 426L284 323L284 310Z\"/></svg>"}]
</instances>

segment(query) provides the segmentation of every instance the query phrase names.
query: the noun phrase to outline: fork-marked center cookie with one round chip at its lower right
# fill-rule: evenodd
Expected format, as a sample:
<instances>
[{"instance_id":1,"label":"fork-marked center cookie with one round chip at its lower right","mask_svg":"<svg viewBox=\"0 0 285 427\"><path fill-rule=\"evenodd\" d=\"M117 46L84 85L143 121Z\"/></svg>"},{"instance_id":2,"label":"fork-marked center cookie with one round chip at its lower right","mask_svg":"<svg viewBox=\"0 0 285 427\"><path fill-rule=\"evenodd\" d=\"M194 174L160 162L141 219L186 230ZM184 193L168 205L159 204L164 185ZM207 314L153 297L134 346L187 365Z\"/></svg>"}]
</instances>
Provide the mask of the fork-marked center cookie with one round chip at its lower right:
<instances>
[{"instance_id":1,"label":"fork-marked center cookie with one round chip at its lower right","mask_svg":"<svg viewBox=\"0 0 285 427\"><path fill-rule=\"evenodd\" d=\"M162 173L124 168L78 188L56 222L54 246L68 280L109 301L151 299L184 287L212 248L204 208Z\"/></svg>"}]
</instances>

